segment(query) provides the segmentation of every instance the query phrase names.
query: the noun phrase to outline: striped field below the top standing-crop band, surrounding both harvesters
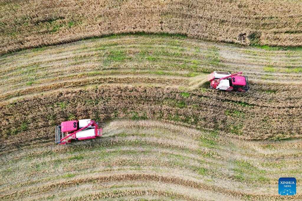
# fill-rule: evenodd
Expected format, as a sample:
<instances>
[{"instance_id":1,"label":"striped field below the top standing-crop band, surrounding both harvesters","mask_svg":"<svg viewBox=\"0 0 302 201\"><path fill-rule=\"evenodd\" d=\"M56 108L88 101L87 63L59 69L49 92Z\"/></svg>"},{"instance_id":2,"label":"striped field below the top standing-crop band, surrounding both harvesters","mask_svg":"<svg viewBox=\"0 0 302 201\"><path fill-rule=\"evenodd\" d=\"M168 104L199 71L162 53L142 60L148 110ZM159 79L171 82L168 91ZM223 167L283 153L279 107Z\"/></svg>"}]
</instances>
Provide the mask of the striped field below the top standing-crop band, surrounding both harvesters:
<instances>
[{"instance_id":1,"label":"striped field below the top standing-crop band, surrounding both harvesters","mask_svg":"<svg viewBox=\"0 0 302 201\"><path fill-rule=\"evenodd\" d=\"M301 48L120 34L0 56L1 200L300 200ZM209 89L243 71L248 93ZM61 121L103 137L59 146Z\"/></svg>"}]
</instances>

